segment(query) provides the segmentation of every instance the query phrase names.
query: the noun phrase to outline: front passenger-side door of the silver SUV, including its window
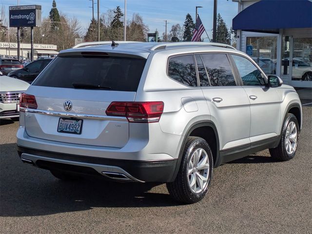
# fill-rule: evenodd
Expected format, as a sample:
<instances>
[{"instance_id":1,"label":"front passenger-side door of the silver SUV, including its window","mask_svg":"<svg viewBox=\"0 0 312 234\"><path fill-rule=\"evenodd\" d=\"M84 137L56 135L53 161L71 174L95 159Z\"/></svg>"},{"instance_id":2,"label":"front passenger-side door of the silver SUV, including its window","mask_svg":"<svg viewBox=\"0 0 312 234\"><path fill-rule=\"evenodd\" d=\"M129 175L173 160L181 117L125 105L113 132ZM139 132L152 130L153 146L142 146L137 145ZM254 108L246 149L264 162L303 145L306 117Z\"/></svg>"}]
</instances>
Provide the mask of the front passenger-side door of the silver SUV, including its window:
<instances>
[{"instance_id":1,"label":"front passenger-side door of the silver SUV, including its window","mask_svg":"<svg viewBox=\"0 0 312 234\"><path fill-rule=\"evenodd\" d=\"M251 110L251 142L279 135L281 99L275 88L265 86L260 70L254 63L239 55L231 55L241 77Z\"/></svg>"}]
</instances>

